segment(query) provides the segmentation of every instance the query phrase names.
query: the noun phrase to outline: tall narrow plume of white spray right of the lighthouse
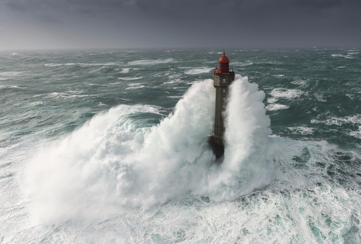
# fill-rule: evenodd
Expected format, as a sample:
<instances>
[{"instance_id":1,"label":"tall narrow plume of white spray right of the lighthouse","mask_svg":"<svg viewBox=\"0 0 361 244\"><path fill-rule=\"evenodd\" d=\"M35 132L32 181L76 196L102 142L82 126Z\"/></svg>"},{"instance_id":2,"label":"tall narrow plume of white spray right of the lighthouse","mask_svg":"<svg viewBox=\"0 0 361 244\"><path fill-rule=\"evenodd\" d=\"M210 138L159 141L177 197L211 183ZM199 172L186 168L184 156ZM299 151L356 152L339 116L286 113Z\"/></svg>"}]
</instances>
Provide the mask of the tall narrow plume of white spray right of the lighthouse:
<instances>
[{"instance_id":1,"label":"tall narrow plume of white spray right of the lighthouse","mask_svg":"<svg viewBox=\"0 0 361 244\"><path fill-rule=\"evenodd\" d=\"M209 172L202 194L213 200L234 200L271 181L275 145L271 145L270 119L265 93L248 77L236 75L230 85L225 116L223 162Z\"/></svg>"}]
</instances>

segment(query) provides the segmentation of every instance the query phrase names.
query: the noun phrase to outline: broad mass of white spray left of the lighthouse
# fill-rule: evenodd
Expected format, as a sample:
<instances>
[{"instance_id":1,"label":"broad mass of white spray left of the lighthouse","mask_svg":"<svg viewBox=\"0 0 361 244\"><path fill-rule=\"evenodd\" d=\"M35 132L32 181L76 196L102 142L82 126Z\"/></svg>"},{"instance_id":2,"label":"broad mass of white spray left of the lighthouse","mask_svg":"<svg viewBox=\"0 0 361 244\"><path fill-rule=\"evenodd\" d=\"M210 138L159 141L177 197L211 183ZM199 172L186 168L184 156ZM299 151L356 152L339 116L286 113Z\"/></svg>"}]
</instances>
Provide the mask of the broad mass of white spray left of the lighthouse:
<instances>
[{"instance_id":1,"label":"broad mass of white spray left of the lighthouse","mask_svg":"<svg viewBox=\"0 0 361 244\"><path fill-rule=\"evenodd\" d=\"M212 80L205 80L155 127L137 128L130 115L156 108L121 105L44 146L25 172L33 212L49 221L93 217L184 196L214 158L207 147L214 96Z\"/></svg>"}]
</instances>

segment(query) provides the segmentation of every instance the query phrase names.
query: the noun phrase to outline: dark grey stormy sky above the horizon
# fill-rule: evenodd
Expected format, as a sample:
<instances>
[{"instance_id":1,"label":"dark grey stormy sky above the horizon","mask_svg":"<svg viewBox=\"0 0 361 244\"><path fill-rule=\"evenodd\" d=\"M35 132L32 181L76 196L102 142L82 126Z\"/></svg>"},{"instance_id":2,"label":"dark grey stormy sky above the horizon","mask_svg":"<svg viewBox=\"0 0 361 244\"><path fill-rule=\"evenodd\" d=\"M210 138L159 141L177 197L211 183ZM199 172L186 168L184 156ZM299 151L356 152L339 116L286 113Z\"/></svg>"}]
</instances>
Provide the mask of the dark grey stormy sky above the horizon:
<instances>
[{"instance_id":1,"label":"dark grey stormy sky above the horizon","mask_svg":"<svg viewBox=\"0 0 361 244\"><path fill-rule=\"evenodd\" d=\"M361 0L0 0L0 49L361 46Z\"/></svg>"}]
</instances>

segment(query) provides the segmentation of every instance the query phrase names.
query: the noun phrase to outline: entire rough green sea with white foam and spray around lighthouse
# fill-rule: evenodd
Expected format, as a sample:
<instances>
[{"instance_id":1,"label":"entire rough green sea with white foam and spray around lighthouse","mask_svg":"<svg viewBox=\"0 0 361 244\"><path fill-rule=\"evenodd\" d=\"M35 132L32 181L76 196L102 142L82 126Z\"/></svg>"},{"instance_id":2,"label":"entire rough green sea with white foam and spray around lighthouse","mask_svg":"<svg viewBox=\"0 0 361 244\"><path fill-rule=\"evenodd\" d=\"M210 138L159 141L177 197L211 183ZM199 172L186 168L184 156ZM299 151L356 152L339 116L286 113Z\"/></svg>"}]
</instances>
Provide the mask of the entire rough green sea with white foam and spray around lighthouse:
<instances>
[{"instance_id":1,"label":"entire rough green sea with white foam and spray around lighthouse","mask_svg":"<svg viewBox=\"0 0 361 244\"><path fill-rule=\"evenodd\" d=\"M361 243L361 50L0 53L0 243Z\"/></svg>"}]
</instances>

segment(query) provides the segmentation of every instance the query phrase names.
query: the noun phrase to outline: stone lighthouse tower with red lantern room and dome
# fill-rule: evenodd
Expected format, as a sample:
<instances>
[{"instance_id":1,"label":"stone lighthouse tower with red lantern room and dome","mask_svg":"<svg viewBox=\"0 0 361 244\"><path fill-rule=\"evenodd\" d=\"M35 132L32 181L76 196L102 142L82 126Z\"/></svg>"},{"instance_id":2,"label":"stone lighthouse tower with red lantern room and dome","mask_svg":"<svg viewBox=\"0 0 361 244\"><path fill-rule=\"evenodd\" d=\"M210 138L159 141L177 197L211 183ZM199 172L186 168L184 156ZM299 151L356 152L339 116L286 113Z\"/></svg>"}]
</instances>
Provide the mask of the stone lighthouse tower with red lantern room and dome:
<instances>
[{"instance_id":1,"label":"stone lighthouse tower with red lantern room and dome","mask_svg":"<svg viewBox=\"0 0 361 244\"><path fill-rule=\"evenodd\" d=\"M228 95L228 86L234 81L234 72L229 70L229 59L225 52L218 60L219 66L213 71L213 85L216 88L216 121L214 123L214 135L209 138L209 144L216 158L221 158L224 153L224 111Z\"/></svg>"}]
</instances>

